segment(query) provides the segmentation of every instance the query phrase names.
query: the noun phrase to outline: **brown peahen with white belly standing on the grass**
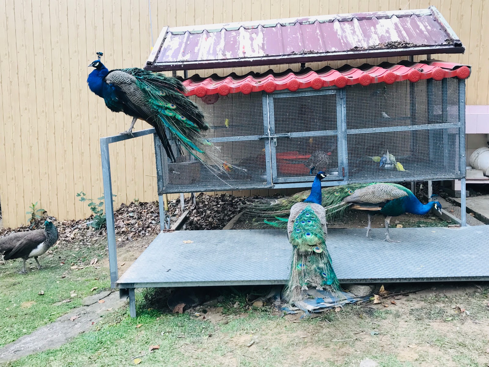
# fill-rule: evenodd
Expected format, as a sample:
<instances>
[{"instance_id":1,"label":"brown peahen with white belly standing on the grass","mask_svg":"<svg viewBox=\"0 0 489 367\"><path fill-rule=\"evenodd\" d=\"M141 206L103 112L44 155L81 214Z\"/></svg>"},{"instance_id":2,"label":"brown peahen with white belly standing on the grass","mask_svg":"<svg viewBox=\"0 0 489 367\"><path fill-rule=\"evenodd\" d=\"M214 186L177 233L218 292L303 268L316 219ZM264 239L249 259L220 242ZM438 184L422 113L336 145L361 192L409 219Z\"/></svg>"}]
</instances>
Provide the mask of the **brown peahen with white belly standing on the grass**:
<instances>
[{"instance_id":1,"label":"brown peahen with white belly standing on the grass","mask_svg":"<svg viewBox=\"0 0 489 367\"><path fill-rule=\"evenodd\" d=\"M38 256L44 254L58 240L58 229L52 223L54 217L47 217L44 229L16 232L0 238L0 255L4 260L22 258L21 274L25 274L25 261L34 257L38 269L41 269Z\"/></svg>"}]
</instances>

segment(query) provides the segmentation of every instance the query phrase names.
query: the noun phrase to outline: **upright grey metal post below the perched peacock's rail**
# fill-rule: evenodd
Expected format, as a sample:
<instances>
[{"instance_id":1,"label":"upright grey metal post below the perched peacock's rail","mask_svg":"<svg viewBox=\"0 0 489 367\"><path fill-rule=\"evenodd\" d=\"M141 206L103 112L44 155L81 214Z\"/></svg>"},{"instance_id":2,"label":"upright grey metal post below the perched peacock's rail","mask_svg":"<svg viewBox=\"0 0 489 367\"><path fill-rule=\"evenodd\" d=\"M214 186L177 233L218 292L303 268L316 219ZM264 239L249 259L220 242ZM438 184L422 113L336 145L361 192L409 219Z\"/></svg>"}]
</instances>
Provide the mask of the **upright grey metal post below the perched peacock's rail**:
<instances>
[{"instance_id":1,"label":"upright grey metal post below the perched peacock's rail","mask_svg":"<svg viewBox=\"0 0 489 367\"><path fill-rule=\"evenodd\" d=\"M102 156L102 179L104 182L105 216L107 218L107 244L109 248L109 268L111 272L111 287L119 278L117 272L117 249L115 244L114 205L112 202L111 160L109 156L109 142L106 138L100 139L100 153Z\"/></svg>"}]
</instances>

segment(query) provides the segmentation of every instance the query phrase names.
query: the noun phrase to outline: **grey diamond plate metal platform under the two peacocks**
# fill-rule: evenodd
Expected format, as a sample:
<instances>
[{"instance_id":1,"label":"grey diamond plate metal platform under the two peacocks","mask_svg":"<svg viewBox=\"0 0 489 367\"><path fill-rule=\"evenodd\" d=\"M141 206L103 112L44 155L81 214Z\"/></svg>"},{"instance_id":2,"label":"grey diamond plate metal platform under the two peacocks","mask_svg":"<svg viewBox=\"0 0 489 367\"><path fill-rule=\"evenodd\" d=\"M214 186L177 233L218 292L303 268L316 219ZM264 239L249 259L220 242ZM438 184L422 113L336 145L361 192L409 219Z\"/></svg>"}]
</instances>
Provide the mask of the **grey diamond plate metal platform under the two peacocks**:
<instances>
[{"instance_id":1,"label":"grey diamond plate metal platform under the two peacocks","mask_svg":"<svg viewBox=\"0 0 489 367\"><path fill-rule=\"evenodd\" d=\"M371 233L367 239L364 229L329 230L341 282L489 280L489 226L389 229L401 243L383 242L384 229ZM278 229L160 233L117 287L283 284L291 253Z\"/></svg>"}]
</instances>

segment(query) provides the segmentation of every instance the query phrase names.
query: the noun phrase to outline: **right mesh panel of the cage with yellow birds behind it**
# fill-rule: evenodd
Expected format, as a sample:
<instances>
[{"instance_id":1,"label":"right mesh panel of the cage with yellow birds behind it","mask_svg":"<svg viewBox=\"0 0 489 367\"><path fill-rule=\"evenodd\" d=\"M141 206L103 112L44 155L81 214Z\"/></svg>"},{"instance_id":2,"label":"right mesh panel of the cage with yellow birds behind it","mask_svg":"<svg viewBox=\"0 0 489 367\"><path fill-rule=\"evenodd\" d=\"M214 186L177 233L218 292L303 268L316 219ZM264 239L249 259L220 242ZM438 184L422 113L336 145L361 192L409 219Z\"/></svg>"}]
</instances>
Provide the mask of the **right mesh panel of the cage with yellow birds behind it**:
<instances>
[{"instance_id":1,"label":"right mesh panel of the cage with yellow birds behind it","mask_svg":"<svg viewBox=\"0 0 489 367\"><path fill-rule=\"evenodd\" d=\"M455 78L348 87L349 181L463 177L458 88Z\"/></svg>"}]
</instances>

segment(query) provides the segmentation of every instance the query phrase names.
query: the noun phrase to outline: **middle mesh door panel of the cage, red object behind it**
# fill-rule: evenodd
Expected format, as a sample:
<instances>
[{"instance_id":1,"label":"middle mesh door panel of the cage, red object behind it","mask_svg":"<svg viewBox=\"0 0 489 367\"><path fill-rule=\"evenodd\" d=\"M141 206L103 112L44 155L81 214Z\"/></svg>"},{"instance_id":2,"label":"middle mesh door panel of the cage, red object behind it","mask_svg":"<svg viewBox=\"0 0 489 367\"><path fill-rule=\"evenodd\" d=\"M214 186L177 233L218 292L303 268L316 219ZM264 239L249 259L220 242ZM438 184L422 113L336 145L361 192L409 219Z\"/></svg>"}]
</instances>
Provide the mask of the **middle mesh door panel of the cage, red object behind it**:
<instances>
[{"instance_id":1,"label":"middle mesh door panel of the cage, red object behind it","mask_svg":"<svg viewBox=\"0 0 489 367\"><path fill-rule=\"evenodd\" d=\"M273 182L312 181L311 169L327 172L327 180L342 180L336 91L277 93L272 98L271 135L277 137Z\"/></svg>"}]
</instances>

